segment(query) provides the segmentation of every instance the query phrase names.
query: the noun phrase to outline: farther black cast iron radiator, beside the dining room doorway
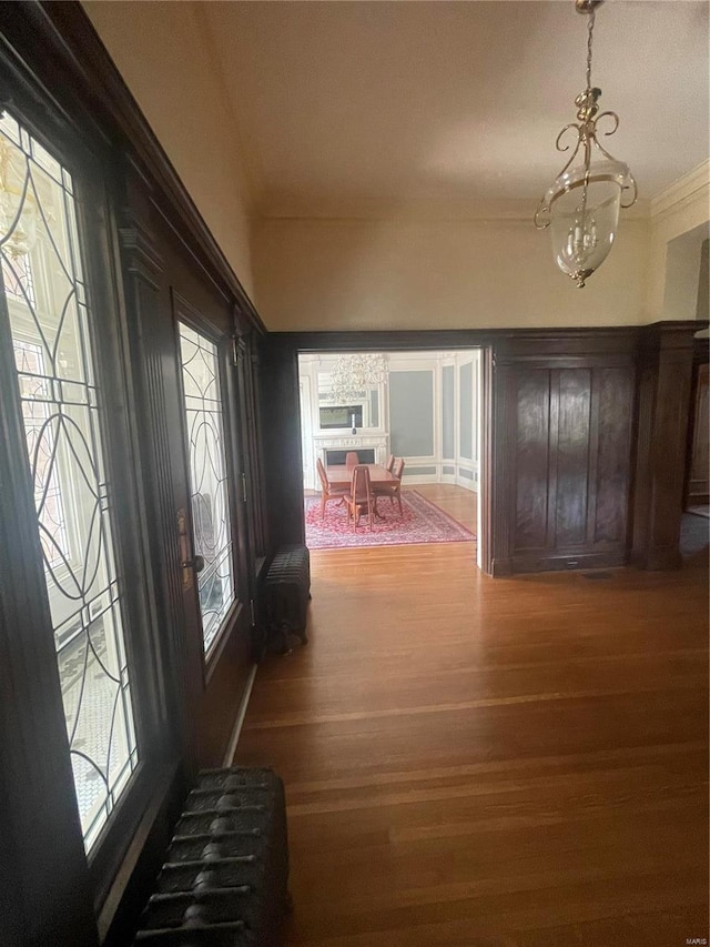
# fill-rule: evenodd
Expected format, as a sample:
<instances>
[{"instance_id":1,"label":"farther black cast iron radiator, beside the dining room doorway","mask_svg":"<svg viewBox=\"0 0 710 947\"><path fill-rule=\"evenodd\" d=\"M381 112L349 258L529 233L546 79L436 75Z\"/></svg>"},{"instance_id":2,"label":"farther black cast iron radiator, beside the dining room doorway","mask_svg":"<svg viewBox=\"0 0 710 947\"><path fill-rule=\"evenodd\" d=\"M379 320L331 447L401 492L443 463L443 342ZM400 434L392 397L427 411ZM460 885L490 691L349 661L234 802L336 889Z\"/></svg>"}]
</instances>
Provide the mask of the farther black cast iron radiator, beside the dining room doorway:
<instances>
[{"instance_id":1,"label":"farther black cast iron radiator, beside the dining room doorway","mask_svg":"<svg viewBox=\"0 0 710 947\"><path fill-rule=\"evenodd\" d=\"M281 546L264 581L267 644L288 649L288 635L306 644L306 608L311 598L311 556L307 546Z\"/></svg>"}]
</instances>

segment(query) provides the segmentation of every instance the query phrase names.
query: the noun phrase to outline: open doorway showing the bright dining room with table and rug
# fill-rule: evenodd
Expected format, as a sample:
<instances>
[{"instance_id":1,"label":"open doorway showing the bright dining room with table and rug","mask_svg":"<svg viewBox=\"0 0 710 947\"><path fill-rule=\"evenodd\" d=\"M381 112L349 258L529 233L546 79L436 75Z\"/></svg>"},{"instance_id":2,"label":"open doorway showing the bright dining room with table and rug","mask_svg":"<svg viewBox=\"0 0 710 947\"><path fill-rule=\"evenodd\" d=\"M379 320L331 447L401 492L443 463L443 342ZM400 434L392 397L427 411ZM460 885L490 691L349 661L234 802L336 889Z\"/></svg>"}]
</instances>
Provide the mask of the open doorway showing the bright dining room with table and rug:
<instances>
[{"instance_id":1,"label":"open doorway showing the bright dining room with table and rug","mask_svg":"<svg viewBox=\"0 0 710 947\"><path fill-rule=\"evenodd\" d=\"M310 548L470 542L480 566L481 354L479 347L300 353ZM368 467L372 515L353 508L355 465Z\"/></svg>"}]
</instances>

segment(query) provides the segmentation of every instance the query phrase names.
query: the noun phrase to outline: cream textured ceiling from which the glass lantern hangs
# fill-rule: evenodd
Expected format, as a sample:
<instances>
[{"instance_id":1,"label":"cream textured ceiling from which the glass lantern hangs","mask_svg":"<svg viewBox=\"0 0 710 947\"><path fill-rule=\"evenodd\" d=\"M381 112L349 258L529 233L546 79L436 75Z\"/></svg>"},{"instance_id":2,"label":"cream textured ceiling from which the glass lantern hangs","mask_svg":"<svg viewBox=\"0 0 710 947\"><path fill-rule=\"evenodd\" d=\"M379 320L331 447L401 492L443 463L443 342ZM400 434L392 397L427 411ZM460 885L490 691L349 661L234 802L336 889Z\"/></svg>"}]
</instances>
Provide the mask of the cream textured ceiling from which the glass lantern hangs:
<instances>
[{"instance_id":1,"label":"cream textured ceiling from which the glass lantern hangs","mask_svg":"<svg viewBox=\"0 0 710 947\"><path fill-rule=\"evenodd\" d=\"M123 33L129 59L146 7L166 37L191 8L201 39L174 49L172 68L216 74L266 218L527 214L566 161L555 139L585 85L587 18L572 0L84 6L110 50ZM708 10L609 0L597 13L592 81L620 117L604 143L630 164L641 208L708 158ZM134 57L160 94L163 52ZM201 119L180 148L204 164Z\"/></svg>"}]
</instances>

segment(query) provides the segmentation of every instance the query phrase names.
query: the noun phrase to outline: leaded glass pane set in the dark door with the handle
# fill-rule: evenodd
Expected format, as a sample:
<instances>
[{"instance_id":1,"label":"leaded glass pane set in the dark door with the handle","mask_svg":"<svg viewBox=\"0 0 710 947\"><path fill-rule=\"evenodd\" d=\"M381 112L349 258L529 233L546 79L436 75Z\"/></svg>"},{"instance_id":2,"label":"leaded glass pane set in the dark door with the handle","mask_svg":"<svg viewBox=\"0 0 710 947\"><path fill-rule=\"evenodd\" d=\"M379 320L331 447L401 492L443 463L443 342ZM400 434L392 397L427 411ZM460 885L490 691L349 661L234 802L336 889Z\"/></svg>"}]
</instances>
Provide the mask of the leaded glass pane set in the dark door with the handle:
<instances>
[{"instance_id":1,"label":"leaded glass pane set in the dark door with the handle","mask_svg":"<svg viewBox=\"0 0 710 947\"><path fill-rule=\"evenodd\" d=\"M216 345L182 322L180 354L194 553L204 560L197 587L204 649L207 651L236 598L220 363Z\"/></svg>"}]
</instances>

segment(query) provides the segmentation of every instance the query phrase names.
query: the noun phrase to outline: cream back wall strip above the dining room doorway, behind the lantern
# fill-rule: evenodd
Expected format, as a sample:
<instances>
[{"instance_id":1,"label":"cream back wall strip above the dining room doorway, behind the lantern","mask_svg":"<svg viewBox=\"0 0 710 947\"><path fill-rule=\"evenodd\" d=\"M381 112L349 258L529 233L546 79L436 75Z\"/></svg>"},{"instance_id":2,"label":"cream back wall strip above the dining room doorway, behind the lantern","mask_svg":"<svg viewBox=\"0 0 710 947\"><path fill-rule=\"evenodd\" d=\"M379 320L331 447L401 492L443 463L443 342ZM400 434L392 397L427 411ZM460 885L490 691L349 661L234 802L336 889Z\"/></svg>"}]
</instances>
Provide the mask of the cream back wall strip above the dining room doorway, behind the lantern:
<instances>
[{"instance_id":1,"label":"cream back wall strip above the dining room doorway, behind the lantern","mask_svg":"<svg viewBox=\"0 0 710 947\"><path fill-rule=\"evenodd\" d=\"M528 220L265 220L254 276L278 331L637 324L649 232L625 220L580 290Z\"/></svg>"}]
</instances>

